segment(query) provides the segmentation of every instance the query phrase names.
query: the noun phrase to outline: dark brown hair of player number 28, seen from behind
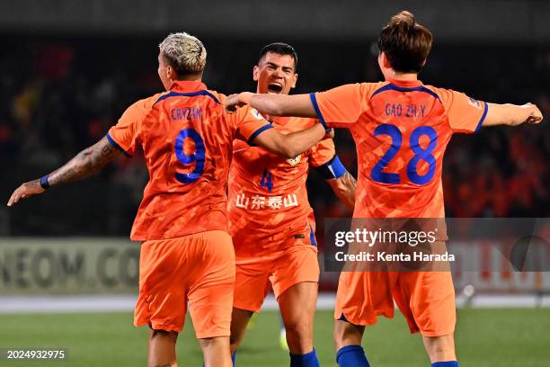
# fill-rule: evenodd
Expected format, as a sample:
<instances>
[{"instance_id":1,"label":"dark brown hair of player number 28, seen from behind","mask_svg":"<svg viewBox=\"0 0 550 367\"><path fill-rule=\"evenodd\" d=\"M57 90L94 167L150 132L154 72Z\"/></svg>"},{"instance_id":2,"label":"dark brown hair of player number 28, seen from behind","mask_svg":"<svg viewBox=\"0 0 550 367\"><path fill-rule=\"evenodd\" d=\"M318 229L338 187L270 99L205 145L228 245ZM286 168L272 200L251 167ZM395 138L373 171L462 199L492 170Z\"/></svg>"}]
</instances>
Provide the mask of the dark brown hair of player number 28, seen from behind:
<instances>
[{"instance_id":1,"label":"dark brown hair of player number 28, seen from behind","mask_svg":"<svg viewBox=\"0 0 550 367\"><path fill-rule=\"evenodd\" d=\"M403 11L392 17L380 32L378 49L400 73L420 73L431 50L431 32Z\"/></svg>"}]
</instances>

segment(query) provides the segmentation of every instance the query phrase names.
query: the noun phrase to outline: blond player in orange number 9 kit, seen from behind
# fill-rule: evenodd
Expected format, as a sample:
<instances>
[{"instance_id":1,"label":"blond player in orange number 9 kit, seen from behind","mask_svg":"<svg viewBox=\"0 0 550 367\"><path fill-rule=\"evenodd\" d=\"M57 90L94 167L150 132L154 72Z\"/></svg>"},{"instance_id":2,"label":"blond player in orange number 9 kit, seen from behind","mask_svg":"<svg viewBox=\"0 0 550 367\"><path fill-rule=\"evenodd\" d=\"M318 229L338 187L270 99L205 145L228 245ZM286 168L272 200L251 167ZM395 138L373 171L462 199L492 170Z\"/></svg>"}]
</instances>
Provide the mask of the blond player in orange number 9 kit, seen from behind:
<instances>
[{"instance_id":1,"label":"blond player in orange number 9 kit, seen from behind","mask_svg":"<svg viewBox=\"0 0 550 367\"><path fill-rule=\"evenodd\" d=\"M150 327L148 365L176 365L176 338L189 307L206 365L228 367L235 251L226 184L233 141L291 158L326 130L315 124L283 135L255 111L227 114L226 96L201 82L206 49L200 40L175 33L159 49L166 92L132 104L103 139L49 175L23 183L8 206L143 148L150 178L130 237L143 241L134 324Z\"/></svg>"}]
</instances>

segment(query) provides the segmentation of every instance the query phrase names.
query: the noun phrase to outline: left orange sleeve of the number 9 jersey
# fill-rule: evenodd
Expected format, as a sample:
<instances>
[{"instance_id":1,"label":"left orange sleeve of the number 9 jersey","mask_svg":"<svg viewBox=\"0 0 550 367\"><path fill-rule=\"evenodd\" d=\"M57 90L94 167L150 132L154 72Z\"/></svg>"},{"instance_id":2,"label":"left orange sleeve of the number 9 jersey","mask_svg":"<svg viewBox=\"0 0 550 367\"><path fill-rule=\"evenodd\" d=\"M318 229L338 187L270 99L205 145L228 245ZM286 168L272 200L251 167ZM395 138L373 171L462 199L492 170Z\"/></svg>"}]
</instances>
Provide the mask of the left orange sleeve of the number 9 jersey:
<instances>
[{"instance_id":1,"label":"left orange sleeve of the number 9 jersey","mask_svg":"<svg viewBox=\"0 0 550 367\"><path fill-rule=\"evenodd\" d=\"M151 109L148 104L147 100L140 100L129 106L120 116L119 122L107 133L107 139L126 157L131 157L136 150L141 123Z\"/></svg>"}]
</instances>

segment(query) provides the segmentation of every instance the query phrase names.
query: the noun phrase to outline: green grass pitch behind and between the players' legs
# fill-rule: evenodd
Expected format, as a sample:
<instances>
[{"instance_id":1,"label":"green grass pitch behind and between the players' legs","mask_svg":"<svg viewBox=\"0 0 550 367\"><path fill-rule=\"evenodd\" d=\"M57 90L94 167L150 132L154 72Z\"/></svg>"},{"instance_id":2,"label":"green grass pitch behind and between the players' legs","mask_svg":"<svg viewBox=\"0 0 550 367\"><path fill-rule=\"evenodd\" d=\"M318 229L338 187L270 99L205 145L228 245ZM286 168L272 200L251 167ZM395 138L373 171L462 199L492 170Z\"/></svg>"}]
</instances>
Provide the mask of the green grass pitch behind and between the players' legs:
<instances>
[{"instance_id":1,"label":"green grass pitch behind and between the players' legs","mask_svg":"<svg viewBox=\"0 0 550 367\"><path fill-rule=\"evenodd\" d=\"M65 362L0 362L6 366L144 366L146 328L131 325L131 313L0 315L0 348L67 348ZM332 312L315 318L315 347L321 365L335 366ZM421 338L411 336L404 318L379 318L363 339L373 366L429 366ZM550 366L550 310L460 309L457 353L462 366ZM177 345L180 366L200 367L200 348L191 323ZM279 316L265 311L254 318L237 353L239 367L288 366L288 353L279 347Z\"/></svg>"}]
</instances>

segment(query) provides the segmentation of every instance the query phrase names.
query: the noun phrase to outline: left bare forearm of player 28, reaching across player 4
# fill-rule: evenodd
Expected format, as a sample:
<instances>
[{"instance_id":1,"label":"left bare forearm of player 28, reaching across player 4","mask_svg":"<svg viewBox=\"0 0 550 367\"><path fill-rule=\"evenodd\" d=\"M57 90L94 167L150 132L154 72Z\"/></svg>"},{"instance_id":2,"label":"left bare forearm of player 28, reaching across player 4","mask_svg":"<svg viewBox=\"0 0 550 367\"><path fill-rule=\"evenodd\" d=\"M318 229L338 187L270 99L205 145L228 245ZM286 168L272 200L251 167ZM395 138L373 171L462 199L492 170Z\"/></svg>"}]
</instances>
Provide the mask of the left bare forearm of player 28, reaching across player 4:
<instances>
[{"instance_id":1,"label":"left bare forearm of player 28, reaching across player 4","mask_svg":"<svg viewBox=\"0 0 550 367\"><path fill-rule=\"evenodd\" d=\"M250 104L262 113L271 116L317 117L309 94L231 94L226 99L226 109L234 112L236 107Z\"/></svg>"}]
</instances>

